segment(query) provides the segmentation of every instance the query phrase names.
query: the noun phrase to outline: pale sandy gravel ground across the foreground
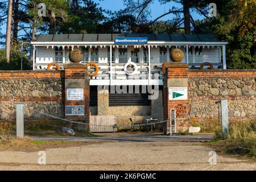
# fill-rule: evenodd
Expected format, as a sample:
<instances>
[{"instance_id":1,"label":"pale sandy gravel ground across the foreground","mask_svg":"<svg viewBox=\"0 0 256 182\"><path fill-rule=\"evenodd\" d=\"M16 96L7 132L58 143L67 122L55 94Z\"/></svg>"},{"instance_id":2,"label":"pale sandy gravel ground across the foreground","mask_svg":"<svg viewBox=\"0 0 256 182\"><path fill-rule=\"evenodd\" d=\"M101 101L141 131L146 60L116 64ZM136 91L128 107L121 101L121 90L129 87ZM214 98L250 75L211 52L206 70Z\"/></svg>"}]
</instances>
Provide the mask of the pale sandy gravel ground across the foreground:
<instances>
[{"instance_id":1,"label":"pale sandy gravel ground across the foreground","mask_svg":"<svg viewBox=\"0 0 256 182\"><path fill-rule=\"evenodd\" d=\"M46 150L46 165L38 152L2 151L0 170L256 170L256 163L217 155L197 142L98 142Z\"/></svg>"}]
</instances>

